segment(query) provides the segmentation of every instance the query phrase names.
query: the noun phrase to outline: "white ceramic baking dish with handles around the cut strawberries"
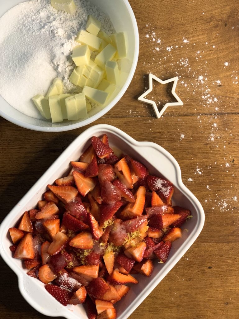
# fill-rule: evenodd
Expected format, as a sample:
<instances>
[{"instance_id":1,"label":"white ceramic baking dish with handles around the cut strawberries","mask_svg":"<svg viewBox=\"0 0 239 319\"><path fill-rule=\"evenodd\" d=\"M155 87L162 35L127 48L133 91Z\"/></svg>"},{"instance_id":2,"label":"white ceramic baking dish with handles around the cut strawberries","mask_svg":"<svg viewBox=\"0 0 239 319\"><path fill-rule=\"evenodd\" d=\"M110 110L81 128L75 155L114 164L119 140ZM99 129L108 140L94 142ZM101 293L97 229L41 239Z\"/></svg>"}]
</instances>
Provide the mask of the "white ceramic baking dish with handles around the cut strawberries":
<instances>
[{"instance_id":1,"label":"white ceramic baking dish with handles around the cut strawberries","mask_svg":"<svg viewBox=\"0 0 239 319\"><path fill-rule=\"evenodd\" d=\"M170 180L175 186L173 204L192 211L193 218L183 226L182 238L173 242L169 258L165 264L155 261L155 268L150 278L135 275L139 284L132 285L125 298L116 304L118 319L127 318L149 293L160 283L167 273L176 265L192 243L200 234L204 224L204 211L197 198L185 187L181 179L180 167L177 161L161 146L151 142L138 142L123 131L110 125L95 125L78 136L69 147L48 168L45 174L33 185L26 195L6 216L0 226L0 253L5 262L18 276L18 286L25 300L37 311L47 316L62 316L68 319L86 319L87 314L83 306L62 306L44 288L40 280L29 277L22 268L22 262L12 258L9 246L12 245L8 229L13 227L24 211L34 208L46 191L46 185L68 173L71 160L78 160L79 156L90 144L90 138L107 134L112 146L129 154L134 159L148 167L150 174L159 175Z\"/></svg>"}]
</instances>

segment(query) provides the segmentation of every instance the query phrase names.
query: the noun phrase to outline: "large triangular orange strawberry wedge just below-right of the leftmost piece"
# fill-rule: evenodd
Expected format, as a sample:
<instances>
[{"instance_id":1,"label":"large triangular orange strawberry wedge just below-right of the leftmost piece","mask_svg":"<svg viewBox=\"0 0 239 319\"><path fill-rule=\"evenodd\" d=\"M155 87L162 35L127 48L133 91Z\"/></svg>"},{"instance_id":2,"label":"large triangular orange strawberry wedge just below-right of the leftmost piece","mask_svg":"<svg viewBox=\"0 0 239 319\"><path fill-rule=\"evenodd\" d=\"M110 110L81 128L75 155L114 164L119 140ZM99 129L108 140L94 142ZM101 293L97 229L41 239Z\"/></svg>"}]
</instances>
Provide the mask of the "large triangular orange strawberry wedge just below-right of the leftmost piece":
<instances>
[{"instance_id":1,"label":"large triangular orange strawberry wedge just below-right of the leftmost piece","mask_svg":"<svg viewBox=\"0 0 239 319\"><path fill-rule=\"evenodd\" d=\"M27 233L19 242L14 258L33 259L34 256L33 237L30 233Z\"/></svg>"}]
</instances>

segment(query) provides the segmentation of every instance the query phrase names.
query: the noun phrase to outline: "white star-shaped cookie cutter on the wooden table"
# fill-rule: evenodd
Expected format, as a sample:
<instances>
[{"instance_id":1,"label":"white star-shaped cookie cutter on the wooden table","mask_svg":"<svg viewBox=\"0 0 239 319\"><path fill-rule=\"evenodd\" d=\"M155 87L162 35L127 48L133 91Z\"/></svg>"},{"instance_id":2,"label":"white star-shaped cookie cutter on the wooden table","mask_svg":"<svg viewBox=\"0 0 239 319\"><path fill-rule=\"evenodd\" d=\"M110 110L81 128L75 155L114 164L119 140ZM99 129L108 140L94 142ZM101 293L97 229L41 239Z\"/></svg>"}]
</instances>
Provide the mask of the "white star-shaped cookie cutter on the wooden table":
<instances>
[{"instance_id":1,"label":"white star-shaped cookie cutter on the wooden table","mask_svg":"<svg viewBox=\"0 0 239 319\"><path fill-rule=\"evenodd\" d=\"M145 96L147 96L148 93L150 93L153 90L153 79L155 81L159 82L160 84L167 84L167 83L173 82L173 87L172 87L171 93L175 97L175 99L177 100L177 102L167 102L163 106L163 108L162 108L162 110L160 112L159 112L159 110L157 108L157 105L156 105L155 101L145 99ZM154 109L154 113L156 115L156 118L159 119L168 106L182 106L183 105L183 101L175 93L177 80L178 80L178 77L174 77L174 78L170 78L168 80L164 80L163 81L160 78L157 78L152 73L149 73L149 75L148 75L148 90L146 92L144 92L140 97L138 97L138 101L152 105L152 107Z\"/></svg>"}]
</instances>

